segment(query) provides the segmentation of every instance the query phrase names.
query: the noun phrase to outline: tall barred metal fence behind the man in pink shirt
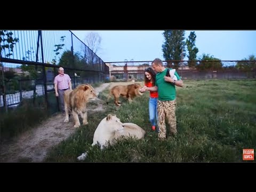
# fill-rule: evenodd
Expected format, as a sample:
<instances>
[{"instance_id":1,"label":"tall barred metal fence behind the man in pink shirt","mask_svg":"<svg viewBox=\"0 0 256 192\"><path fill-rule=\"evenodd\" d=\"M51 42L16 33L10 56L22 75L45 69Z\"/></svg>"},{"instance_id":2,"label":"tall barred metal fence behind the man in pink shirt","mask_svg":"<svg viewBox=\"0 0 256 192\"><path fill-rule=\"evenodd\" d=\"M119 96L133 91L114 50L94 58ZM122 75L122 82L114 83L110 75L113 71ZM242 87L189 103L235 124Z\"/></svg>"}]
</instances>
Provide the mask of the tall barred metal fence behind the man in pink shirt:
<instances>
[{"instance_id":1,"label":"tall barred metal fence behind the man in pink shirt","mask_svg":"<svg viewBox=\"0 0 256 192\"><path fill-rule=\"evenodd\" d=\"M0 108L43 98L51 113L56 112L53 81L59 67L65 68L73 87L109 76L105 62L69 30L2 30L0 37Z\"/></svg>"}]
</instances>

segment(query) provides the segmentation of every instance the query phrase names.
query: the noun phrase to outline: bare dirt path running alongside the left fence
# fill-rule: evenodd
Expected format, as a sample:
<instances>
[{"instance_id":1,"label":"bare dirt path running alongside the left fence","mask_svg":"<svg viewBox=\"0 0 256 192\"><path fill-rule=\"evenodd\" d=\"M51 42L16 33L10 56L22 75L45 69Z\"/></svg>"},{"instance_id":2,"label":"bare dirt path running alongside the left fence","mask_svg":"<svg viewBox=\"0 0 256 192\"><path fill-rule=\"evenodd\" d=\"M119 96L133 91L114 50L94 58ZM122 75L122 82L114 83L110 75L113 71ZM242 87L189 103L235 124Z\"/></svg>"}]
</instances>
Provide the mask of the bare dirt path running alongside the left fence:
<instances>
[{"instance_id":1,"label":"bare dirt path running alongside the left fence","mask_svg":"<svg viewBox=\"0 0 256 192\"><path fill-rule=\"evenodd\" d=\"M96 87L95 91L99 93L109 84L102 84ZM93 110L102 110L102 105ZM21 134L14 141L1 145L0 162L43 162L52 146L67 139L76 131L73 127L74 119L70 118L69 123L63 123L64 119L63 114L55 114L34 129Z\"/></svg>"}]
</instances>

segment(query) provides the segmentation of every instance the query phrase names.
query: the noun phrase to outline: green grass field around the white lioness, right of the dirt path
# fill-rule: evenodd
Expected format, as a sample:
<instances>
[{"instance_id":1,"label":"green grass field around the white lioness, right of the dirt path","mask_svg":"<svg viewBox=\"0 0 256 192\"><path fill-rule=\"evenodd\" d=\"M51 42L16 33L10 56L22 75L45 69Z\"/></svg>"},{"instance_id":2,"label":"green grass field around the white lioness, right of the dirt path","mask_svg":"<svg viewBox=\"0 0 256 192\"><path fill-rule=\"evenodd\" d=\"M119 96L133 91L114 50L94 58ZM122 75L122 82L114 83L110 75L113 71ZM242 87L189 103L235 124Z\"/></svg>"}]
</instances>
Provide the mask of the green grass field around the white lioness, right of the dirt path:
<instances>
[{"instance_id":1,"label":"green grass field around the white lioness, right of the dirt path","mask_svg":"<svg viewBox=\"0 0 256 192\"><path fill-rule=\"evenodd\" d=\"M256 148L256 80L184 83L177 87L177 136L168 134L169 126L164 141L151 131L147 92L131 104L122 99L123 105L117 108L111 100L103 105L105 111L89 113L89 124L53 147L46 162L77 162L77 156L89 150L93 133L107 114L116 114L123 123L138 124L146 136L139 141L118 141L103 150L94 146L84 162L243 162L243 148ZM107 94L105 90L99 98L106 100Z\"/></svg>"}]
</instances>

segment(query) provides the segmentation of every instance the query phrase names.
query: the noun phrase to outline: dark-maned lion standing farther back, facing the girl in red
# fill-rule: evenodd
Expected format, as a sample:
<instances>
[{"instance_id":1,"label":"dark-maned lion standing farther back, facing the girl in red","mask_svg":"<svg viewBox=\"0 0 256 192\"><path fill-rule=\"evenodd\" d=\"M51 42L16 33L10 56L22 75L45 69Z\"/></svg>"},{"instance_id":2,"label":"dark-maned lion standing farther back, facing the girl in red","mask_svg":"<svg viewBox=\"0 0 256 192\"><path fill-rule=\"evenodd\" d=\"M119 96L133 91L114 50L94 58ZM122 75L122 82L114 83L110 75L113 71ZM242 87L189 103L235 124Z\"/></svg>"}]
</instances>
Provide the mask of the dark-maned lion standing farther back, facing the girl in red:
<instances>
[{"instance_id":1,"label":"dark-maned lion standing farther back, facing the girl in red","mask_svg":"<svg viewBox=\"0 0 256 192\"><path fill-rule=\"evenodd\" d=\"M134 83L130 85L116 85L112 87L108 95L107 104L111 95L114 95L114 98L115 98L114 103L116 103L117 106L121 106L120 105L121 102L119 101L120 95L122 97L126 97L129 102L132 102L133 98L143 94L140 92L140 87L141 85L139 83Z\"/></svg>"}]
</instances>

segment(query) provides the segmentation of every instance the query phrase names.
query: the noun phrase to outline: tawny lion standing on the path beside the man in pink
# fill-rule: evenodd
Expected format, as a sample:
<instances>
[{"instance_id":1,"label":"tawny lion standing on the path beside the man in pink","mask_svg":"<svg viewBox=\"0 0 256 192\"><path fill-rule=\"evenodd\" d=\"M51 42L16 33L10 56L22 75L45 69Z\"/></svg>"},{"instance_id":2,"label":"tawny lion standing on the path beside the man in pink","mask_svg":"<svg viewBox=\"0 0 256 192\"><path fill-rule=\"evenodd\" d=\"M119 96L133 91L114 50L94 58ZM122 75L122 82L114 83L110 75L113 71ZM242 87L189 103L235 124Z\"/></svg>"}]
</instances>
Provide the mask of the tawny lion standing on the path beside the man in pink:
<instances>
[{"instance_id":1,"label":"tawny lion standing on the path beside the man in pink","mask_svg":"<svg viewBox=\"0 0 256 192\"><path fill-rule=\"evenodd\" d=\"M65 123L68 123L68 112L72 111L73 117L75 119L74 127L79 127L80 122L78 118L78 114L81 115L83 119L83 124L87 125L87 109L86 103L89 99L97 97L94 89L89 84L82 84L76 87L74 90L66 90L64 92L64 103L65 103L65 113L66 118L64 120Z\"/></svg>"}]
</instances>

